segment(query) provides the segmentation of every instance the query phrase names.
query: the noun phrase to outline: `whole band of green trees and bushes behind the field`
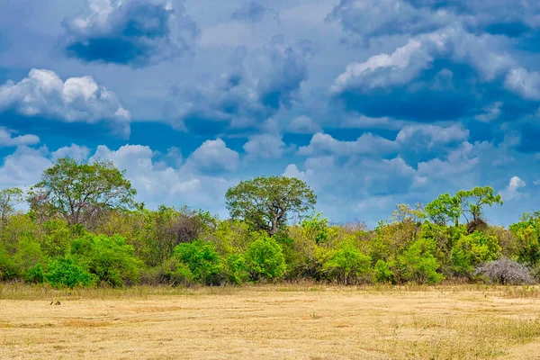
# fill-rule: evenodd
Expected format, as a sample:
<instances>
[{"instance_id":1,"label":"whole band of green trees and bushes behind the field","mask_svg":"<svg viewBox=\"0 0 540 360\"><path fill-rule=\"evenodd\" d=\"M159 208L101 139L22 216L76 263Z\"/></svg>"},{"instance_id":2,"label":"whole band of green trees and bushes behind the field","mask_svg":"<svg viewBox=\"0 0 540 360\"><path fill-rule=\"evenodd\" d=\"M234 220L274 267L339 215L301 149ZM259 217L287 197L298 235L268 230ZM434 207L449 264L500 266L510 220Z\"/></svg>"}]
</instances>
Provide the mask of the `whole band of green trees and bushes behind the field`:
<instances>
[{"instance_id":1,"label":"whole band of green trees and bushes behind the field","mask_svg":"<svg viewBox=\"0 0 540 360\"><path fill-rule=\"evenodd\" d=\"M532 284L540 279L540 212L505 229L484 218L491 187L397 205L375 229L313 212L301 180L257 177L226 194L230 219L133 202L110 162L62 158L27 193L0 191L0 281L55 287L338 284ZM27 211L16 211L27 202ZM299 216L291 223L293 215Z\"/></svg>"}]
</instances>

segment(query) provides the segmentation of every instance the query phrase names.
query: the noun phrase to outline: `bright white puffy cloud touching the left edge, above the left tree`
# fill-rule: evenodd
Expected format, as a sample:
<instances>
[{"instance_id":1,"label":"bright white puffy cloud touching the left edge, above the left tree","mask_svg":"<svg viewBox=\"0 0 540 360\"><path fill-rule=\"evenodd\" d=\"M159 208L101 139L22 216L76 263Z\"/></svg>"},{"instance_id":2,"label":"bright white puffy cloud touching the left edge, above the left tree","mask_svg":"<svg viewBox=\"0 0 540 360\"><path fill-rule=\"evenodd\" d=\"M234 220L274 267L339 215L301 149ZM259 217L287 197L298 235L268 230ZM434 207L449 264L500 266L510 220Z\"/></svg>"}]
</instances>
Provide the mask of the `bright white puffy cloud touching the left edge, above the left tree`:
<instances>
[{"instance_id":1,"label":"bright white puffy cloud touching the left edge, above the left tree","mask_svg":"<svg viewBox=\"0 0 540 360\"><path fill-rule=\"evenodd\" d=\"M6 111L64 122L108 121L121 134L130 133L130 112L121 107L116 94L91 76L63 81L53 71L31 69L20 82L0 85L0 112Z\"/></svg>"}]
</instances>

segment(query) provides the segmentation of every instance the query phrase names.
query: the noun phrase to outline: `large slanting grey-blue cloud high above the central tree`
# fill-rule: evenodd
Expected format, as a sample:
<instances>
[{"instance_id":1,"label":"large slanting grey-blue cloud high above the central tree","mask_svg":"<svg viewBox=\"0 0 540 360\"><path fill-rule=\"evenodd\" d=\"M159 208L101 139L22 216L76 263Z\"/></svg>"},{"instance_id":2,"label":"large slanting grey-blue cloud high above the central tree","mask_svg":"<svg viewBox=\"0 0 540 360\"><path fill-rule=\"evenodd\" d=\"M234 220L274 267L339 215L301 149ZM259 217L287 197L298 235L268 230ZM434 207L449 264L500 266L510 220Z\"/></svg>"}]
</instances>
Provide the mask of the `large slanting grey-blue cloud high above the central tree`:
<instances>
[{"instance_id":1,"label":"large slanting grey-blue cloud high above the central tree","mask_svg":"<svg viewBox=\"0 0 540 360\"><path fill-rule=\"evenodd\" d=\"M309 43L290 44L283 36L275 36L262 49L239 47L229 72L208 85L176 90L187 106L180 110L181 123L175 125L205 135L257 127L281 108L299 102L310 55Z\"/></svg>"}]
</instances>

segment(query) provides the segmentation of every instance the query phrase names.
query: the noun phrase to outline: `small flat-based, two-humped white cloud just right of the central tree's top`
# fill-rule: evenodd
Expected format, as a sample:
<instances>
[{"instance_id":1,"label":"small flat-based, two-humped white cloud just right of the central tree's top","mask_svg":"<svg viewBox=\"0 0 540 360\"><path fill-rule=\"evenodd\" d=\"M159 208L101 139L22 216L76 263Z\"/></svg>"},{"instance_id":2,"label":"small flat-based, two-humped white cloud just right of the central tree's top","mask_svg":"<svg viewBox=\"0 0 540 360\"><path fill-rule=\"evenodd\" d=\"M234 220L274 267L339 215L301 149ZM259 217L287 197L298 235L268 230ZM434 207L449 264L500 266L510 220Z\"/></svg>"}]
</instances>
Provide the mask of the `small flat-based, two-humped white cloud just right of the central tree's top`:
<instances>
[{"instance_id":1,"label":"small flat-based, two-humped white cloud just right of the central tree's top","mask_svg":"<svg viewBox=\"0 0 540 360\"><path fill-rule=\"evenodd\" d=\"M303 156L352 156L366 154L389 154L397 151L398 144L392 140L375 136L371 132L362 134L356 141L341 141L329 134L318 132L310 144L298 149Z\"/></svg>"}]
</instances>

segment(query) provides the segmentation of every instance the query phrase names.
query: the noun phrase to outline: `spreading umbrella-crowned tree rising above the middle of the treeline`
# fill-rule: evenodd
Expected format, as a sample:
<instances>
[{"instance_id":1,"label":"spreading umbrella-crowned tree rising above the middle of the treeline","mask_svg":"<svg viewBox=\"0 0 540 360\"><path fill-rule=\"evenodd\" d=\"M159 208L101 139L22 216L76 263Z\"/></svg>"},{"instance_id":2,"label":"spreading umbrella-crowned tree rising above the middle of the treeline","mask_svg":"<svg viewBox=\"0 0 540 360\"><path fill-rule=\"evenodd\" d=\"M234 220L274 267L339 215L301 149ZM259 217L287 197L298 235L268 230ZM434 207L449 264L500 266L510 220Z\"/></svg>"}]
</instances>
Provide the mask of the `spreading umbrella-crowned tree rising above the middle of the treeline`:
<instances>
[{"instance_id":1,"label":"spreading umbrella-crowned tree rising above the middle of the treeline","mask_svg":"<svg viewBox=\"0 0 540 360\"><path fill-rule=\"evenodd\" d=\"M233 219L245 220L257 230L273 236L287 223L290 213L310 211L317 196L302 180L285 176L259 176L242 181L225 194Z\"/></svg>"}]
</instances>

